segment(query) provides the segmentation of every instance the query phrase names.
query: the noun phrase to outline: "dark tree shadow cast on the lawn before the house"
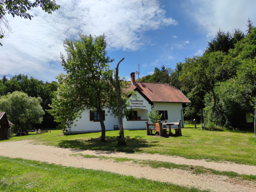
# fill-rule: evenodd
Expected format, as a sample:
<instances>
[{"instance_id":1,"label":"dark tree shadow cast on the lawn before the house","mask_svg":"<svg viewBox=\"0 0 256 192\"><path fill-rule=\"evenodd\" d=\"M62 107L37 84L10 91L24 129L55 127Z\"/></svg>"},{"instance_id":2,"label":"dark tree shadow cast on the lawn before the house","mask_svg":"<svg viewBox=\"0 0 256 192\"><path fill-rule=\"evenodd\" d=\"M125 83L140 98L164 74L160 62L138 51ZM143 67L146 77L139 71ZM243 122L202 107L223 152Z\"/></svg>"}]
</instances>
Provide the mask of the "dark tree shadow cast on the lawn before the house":
<instances>
[{"instance_id":1,"label":"dark tree shadow cast on the lawn before the house","mask_svg":"<svg viewBox=\"0 0 256 192\"><path fill-rule=\"evenodd\" d=\"M148 142L141 137L126 137L127 146L119 146L117 144L117 138L115 136L106 136L105 142L100 142L99 138L86 139L74 139L74 140L61 140L58 144L61 148L74 148L81 150L107 150L107 151L123 151L128 153L134 153L141 151L140 148L149 148L156 146L156 142Z\"/></svg>"}]
</instances>

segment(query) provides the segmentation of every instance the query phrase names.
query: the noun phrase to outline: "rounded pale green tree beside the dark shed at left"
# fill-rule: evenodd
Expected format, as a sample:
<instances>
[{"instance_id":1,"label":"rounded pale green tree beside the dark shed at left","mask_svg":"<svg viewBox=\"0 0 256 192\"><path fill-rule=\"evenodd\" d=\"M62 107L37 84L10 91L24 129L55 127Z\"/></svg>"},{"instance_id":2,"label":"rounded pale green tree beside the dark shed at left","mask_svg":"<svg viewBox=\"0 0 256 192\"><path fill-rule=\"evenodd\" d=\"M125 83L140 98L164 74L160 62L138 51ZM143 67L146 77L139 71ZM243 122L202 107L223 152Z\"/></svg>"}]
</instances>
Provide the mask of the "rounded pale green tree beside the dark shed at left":
<instances>
[{"instance_id":1,"label":"rounded pale green tree beside the dark shed at left","mask_svg":"<svg viewBox=\"0 0 256 192\"><path fill-rule=\"evenodd\" d=\"M29 129L32 124L43 120L41 98L29 97L26 93L14 91L0 98L0 111L5 111L9 120L18 128Z\"/></svg>"}]
</instances>

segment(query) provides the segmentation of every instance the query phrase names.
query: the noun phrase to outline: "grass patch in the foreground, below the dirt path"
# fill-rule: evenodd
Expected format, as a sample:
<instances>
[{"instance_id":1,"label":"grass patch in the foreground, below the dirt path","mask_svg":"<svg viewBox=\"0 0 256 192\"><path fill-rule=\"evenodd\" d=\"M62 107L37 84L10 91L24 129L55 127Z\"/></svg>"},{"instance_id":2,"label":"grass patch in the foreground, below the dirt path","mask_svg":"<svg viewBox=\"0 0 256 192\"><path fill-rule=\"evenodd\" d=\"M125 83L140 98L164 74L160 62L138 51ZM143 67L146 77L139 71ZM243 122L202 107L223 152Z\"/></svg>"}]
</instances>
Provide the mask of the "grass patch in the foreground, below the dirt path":
<instances>
[{"instance_id":1,"label":"grass patch in the foreground, below the dirt path","mask_svg":"<svg viewBox=\"0 0 256 192\"><path fill-rule=\"evenodd\" d=\"M171 183L98 170L0 157L1 192L200 192Z\"/></svg>"}]
</instances>

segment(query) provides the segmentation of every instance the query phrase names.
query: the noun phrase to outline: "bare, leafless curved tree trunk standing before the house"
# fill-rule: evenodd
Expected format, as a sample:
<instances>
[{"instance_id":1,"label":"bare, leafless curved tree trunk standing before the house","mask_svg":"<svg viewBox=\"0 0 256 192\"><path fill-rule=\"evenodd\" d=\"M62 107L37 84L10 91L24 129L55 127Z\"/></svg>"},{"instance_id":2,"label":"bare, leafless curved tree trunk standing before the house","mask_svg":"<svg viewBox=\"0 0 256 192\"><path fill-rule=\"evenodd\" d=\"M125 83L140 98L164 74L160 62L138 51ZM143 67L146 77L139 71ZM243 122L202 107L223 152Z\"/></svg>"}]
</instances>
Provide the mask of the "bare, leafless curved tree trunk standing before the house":
<instances>
[{"instance_id":1,"label":"bare, leafless curved tree trunk standing before the house","mask_svg":"<svg viewBox=\"0 0 256 192\"><path fill-rule=\"evenodd\" d=\"M120 129L120 132L119 132L119 136L117 136L117 143L119 145L126 145L126 142L125 142L125 138L124 138L124 128L122 126L122 112L123 112L123 109L122 109L122 95L121 95L121 89L120 89L120 82L119 82L119 78L118 78L118 67L119 67L119 64L122 62L122 60L124 60L124 58L121 59L121 61L119 61L119 63L117 64L117 68L115 69L116 72L115 72L115 81L117 83L117 94L118 94L118 105L119 105L119 113L118 113L118 123L119 123L119 129Z\"/></svg>"}]
</instances>

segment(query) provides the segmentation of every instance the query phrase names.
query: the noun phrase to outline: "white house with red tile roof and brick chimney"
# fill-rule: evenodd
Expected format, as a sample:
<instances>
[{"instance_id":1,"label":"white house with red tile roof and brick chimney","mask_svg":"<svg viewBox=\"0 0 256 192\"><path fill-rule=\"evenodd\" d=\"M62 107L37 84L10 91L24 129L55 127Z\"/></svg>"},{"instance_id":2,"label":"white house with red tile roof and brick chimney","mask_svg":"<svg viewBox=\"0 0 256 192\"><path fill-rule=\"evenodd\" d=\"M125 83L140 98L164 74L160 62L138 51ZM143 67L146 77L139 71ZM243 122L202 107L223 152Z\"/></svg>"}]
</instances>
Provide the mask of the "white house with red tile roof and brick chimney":
<instances>
[{"instance_id":1,"label":"white house with red tile roof and brick chimney","mask_svg":"<svg viewBox=\"0 0 256 192\"><path fill-rule=\"evenodd\" d=\"M145 121L148 120L147 114L155 109L162 114L161 120L177 122L179 119L183 119L182 103L190 103L180 90L167 83L135 82L134 72L131 73L131 84L129 89L134 90L137 93L137 99L128 95L130 100L128 108L132 108L134 112L123 118L124 129L146 129ZM105 114L106 111L102 111L102 113ZM138 118L139 116L141 118ZM105 116L104 124L106 130L115 130L118 128L118 118L115 118L113 114L108 113L107 116ZM82 113L82 118L78 119L78 121L74 121L74 124L69 131L101 131L97 112L84 111Z\"/></svg>"}]
</instances>

